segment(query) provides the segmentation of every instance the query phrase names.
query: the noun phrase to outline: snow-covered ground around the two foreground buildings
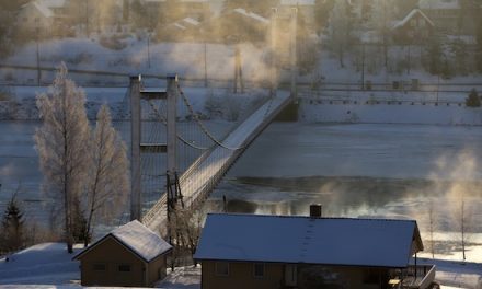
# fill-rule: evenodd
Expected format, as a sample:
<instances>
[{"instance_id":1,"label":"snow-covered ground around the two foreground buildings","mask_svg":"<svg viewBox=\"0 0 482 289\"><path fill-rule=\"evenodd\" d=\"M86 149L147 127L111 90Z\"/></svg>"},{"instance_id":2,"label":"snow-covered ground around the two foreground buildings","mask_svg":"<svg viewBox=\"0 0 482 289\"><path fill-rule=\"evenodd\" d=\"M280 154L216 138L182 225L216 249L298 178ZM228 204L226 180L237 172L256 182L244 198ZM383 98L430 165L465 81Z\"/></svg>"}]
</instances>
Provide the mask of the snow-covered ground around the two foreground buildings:
<instances>
[{"instance_id":1,"label":"snow-covered ground around the two foreground buildings","mask_svg":"<svg viewBox=\"0 0 482 289\"><path fill-rule=\"evenodd\" d=\"M80 288L79 262L68 254L64 243L37 244L0 259L0 288ZM420 259L420 263L437 265L436 280L443 288L482 288L482 264L438 259ZM199 289L200 267L180 267L168 270L168 277L156 285L164 289Z\"/></svg>"}]
</instances>

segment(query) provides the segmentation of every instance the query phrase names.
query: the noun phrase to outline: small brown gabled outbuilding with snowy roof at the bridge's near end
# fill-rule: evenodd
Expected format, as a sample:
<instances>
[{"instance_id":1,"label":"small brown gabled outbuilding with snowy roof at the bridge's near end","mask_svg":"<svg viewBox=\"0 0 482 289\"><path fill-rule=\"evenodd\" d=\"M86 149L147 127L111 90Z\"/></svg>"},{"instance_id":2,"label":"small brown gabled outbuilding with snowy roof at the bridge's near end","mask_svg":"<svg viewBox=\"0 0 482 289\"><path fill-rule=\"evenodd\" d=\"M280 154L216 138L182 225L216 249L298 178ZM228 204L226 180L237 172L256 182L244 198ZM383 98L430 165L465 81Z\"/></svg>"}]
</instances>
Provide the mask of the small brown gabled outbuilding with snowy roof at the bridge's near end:
<instances>
[{"instance_id":1,"label":"small brown gabled outbuilding with snowy roof at the bridge's near end","mask_svg":"<svg viewBox=\"0 0 482 289\"><path fill-rule=\"evenodd\" d=\"M172 246L135 220L90 245L80 261L82 286L152 286L165 277Z\"/></svg>"}]
</instances>

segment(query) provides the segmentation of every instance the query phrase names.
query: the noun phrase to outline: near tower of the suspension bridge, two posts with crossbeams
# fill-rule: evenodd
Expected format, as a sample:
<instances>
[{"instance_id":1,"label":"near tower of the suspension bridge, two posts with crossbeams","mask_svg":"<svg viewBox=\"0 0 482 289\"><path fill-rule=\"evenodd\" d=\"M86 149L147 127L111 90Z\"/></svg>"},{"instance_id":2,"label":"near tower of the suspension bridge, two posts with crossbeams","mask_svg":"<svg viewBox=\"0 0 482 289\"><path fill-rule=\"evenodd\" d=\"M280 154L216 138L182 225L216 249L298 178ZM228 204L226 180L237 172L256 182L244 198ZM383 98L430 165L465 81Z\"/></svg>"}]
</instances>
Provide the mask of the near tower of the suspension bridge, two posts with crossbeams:
<instances>
[{"instance_id":1,"label":"near tower of the suspension bridge, two posts with crossbeams","mask_svg":"<svg viewBox=\"0 0 482 289\"><path fill-rule=\"evenodd\" d=\"M181 200L182 194L177 177L177 131L176 131L176 107L177 107L177 76L167 77L168 88L162 90L144 90L141 77L130 78L130 117L131 117L131 192L130 192L130 219L142 220L141 210L141 152L167 153L167 192L168 192L168 218L171 209ZM167 101L167 143L142 143L141 142L141 100L165 100Z\"/></svg>"}]
</instances>

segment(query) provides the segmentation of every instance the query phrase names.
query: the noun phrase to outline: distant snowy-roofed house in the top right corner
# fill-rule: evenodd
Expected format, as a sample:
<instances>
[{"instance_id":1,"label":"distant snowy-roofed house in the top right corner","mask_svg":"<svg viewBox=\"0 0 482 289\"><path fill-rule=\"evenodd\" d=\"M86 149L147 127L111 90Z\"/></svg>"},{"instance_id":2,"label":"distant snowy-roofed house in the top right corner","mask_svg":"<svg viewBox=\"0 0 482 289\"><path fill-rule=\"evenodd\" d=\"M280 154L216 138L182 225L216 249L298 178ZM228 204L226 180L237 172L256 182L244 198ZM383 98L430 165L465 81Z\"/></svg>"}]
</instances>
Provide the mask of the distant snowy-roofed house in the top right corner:
<instances>
[{"instance_id":1,"label":"distant snowy-roofed house in the top right corner","mask_svg":"<svg viewBox=\"0 0 482 289\"><path fill-rule=\"evenodd\" d=\"M456 33L460 28L462 7L459 0L420 0L418 8L444 33Z\"/></svg>"}]
</instances>

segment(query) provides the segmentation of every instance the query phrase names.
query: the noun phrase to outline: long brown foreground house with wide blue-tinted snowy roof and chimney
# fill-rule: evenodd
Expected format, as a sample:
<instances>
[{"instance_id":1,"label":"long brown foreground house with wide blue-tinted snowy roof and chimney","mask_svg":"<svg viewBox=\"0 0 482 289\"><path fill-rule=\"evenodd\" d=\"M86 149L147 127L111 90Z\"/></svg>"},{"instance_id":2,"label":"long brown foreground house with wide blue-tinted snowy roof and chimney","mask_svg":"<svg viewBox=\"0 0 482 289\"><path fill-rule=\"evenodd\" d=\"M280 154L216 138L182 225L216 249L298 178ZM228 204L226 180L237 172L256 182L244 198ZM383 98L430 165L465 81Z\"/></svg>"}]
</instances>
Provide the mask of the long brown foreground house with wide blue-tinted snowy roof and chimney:
<instances>
[{"instance_id":1,"label":"long brown foreground house with wide blue-tinted snowy roof and chimney","mask_svg":"<svg viewBox=\"0 0 482 289\"><path fill-rule=\"evenodd\" d=\"M203 289L429 288L422 250L412 220L208 215L194 258Z\"/></svg>"}]
</instances>

